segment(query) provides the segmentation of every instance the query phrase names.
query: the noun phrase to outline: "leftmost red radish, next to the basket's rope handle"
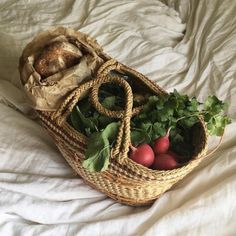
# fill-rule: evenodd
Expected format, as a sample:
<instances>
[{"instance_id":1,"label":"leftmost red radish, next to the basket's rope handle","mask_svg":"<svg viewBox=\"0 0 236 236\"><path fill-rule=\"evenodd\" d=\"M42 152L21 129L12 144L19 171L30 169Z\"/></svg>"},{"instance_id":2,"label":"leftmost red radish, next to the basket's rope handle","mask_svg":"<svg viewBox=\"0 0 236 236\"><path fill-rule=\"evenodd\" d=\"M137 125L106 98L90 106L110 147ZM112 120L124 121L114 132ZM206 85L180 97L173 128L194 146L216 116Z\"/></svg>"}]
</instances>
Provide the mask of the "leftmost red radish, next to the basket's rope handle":
<instances>
[{"instance_id":1,"label":"leftmost red radish, next to the basket's rope handle","mask_svg":"<svg viewBox=\"0 0 236 236\"><path fill-rule=\"evenodd\" d=\"M129 156L133 161L149 167L152 165L155 155L152 148L148 144L141 144L138 147L131 145L131 154Z\"/></svg>"}]
</instances>

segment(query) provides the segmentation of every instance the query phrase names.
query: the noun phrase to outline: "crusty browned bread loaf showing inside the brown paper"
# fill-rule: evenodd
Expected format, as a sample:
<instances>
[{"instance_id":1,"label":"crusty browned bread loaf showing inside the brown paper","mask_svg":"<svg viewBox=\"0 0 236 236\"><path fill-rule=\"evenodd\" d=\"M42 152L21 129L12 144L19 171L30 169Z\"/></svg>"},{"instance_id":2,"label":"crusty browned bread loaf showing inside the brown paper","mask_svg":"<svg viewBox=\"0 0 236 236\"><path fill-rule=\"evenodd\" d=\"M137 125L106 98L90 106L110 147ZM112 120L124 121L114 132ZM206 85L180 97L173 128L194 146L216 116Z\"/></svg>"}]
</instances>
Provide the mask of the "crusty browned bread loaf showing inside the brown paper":
<instances>
[{"instance_id":1,"label":"crusty browned bread loaf showing inside the brown paper","mask_svg":"<svg viewBox=\"0 0 236 236\"><path fill-rule=\"evenodd\" d=\"M34 68L44 79L78 64L81 57L82 52L75 45L69 42L52 42L39 54Z\"/></svg>"}]
</instances>

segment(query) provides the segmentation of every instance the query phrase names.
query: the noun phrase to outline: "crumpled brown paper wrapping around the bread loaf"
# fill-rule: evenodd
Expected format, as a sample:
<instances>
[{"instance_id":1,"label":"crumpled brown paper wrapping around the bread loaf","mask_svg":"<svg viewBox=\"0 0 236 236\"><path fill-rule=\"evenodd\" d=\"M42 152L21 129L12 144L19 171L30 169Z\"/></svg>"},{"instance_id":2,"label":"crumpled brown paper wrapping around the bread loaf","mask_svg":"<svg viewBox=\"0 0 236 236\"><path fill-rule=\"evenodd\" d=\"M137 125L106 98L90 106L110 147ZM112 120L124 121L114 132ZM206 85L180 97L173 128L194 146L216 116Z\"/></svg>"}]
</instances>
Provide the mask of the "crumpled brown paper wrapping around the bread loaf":
<instances>
[{"instance_id":1,"label":"crumpled brown paper wrapping around the bread loaf","mask_svg":"<svg viewBox=\"0 0 236 236\"><path fill-rule=\"evenodd\" d=\"M74 45L82 45L86 54L79 64L42 79L33 66L37 56L49 43L68 42L69 38L73 39ZM58 109L70 91L82 81L92 79L93 73L104 62L100 57L102 53L102 48L94 39L72 29L58 27L37 35L23 50L19 64L21 81L30 105L36 110Z\"/></svg>"}]
</instances>

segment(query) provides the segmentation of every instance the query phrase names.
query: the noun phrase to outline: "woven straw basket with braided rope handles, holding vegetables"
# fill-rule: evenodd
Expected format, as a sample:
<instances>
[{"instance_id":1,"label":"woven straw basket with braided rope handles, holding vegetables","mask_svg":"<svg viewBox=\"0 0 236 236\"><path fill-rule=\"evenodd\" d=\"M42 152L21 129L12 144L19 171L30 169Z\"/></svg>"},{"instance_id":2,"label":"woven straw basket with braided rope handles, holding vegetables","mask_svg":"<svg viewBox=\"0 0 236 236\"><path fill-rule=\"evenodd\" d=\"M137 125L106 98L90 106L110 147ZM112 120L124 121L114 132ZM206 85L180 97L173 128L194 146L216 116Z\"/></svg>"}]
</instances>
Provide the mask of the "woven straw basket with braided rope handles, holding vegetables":
<instances>
[{"instance_id":1,"label":"woven straw basket with braided rope handles, holding vegetables","mask_svg":"<svg viewBox=\"0 0 236 236\"><path fill-rule=\"evenodd\" d=\"M91 42L93 46L93 42ZM128 205L149 205L175 183L190 173L204 158L207 147L207 131L204 122L199 118L199 125L194 131L194 155L191 161L180 168L169 171L148 169L128 158L130 145L130 119L140 112L140 107L133 108L133 94L130 85L111 71L132 75L137 86L142 86L149 93L165 93L155 83L141 73L117 62L102 50L97 50L104 63L95 71L93 80L81 83L70 92L56 111L39 111L37 114L55 144L69 165L84 181L93 188L105 193L112 199ZM21 65L20 65L21 67ZM98 89L103 83L115 82L124 88L126 106L122 111L111 111L104 108L98 99ZM93 106L98 112L120 120L116 144L111 151L109 168L103 172L89 172L82 166L87 137L76 131L67 123L67 117L73 110L80 96L89 92Z\"/></svg>"}]
</instances>

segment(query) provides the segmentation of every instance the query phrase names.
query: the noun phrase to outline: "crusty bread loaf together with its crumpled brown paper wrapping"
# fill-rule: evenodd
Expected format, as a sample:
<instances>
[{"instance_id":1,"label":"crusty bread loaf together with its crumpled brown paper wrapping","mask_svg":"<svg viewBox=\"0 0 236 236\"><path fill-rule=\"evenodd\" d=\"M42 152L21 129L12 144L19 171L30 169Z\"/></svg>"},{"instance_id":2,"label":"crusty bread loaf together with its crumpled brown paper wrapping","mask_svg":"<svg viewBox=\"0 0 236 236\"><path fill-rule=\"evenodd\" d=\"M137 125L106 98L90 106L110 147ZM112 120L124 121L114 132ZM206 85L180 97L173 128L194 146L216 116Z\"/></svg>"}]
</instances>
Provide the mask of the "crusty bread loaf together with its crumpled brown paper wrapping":
<instances>
[{"instance_id":1,"label":"crusty bread loaf together with its crumpled brown paper wrapping","mask_svg":"<svg viewBox=\"0 0 236 236\"><path fill-rule=\"evenodd\" d=\"M58 110L82 82L95 78L108 60L105 57L101 46L82 32L64 27L40 32L26 45L19 61L30 105L40 111Z\"/></svg>"}]
</instances>

